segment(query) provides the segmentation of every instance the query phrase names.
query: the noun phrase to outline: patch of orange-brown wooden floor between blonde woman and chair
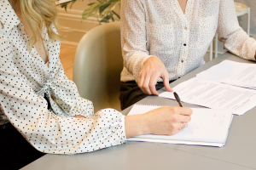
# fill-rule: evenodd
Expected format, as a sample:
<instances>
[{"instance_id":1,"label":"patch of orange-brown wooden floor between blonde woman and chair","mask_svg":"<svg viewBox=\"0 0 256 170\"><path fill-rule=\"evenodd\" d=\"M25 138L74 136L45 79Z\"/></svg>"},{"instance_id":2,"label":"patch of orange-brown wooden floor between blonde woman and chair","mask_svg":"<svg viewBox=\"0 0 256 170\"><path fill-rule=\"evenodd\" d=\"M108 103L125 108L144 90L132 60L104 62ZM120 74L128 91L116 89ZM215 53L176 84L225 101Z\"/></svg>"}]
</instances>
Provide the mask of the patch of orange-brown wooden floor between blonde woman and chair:
<instances>
[{"instance_id":1,"label":"patch of orange-brown wooden floor between blonde woman and chair","mask_svg":"<svg viewBox=\"0 0 256 170\"><path fill-rule=\"evenodd\" d=\"M76 46L61 44L61 64L69 80L73 80L73 61L76 54Z\"/></svg>"}]
</instances>

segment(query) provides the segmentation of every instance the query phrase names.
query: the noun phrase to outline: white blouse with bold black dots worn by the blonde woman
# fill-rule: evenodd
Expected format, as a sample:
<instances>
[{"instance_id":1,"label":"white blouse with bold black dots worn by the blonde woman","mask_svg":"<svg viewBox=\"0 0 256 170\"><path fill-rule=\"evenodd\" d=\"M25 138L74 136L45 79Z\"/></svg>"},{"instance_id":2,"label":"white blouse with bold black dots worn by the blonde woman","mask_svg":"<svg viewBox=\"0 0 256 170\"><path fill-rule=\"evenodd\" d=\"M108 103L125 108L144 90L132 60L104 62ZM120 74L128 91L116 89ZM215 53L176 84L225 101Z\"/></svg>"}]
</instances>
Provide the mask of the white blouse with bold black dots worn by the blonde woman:
<instances>
[{"instance_id":1,"label":"white blouse with bold black dots worn by the blonde woman","mask_svg":"<svg viewBox=\"0 0 256 170\"><path fill-rule=\"evenodd\" d=\"M0 20L0 124L11 122L45 153L76 154L125 143L125 116L112 109L94 114L92 103L79 97L64 74L59 42L44 31L48 67L36 48L28 52L29 38L7 0L0 1Z\"/></svg>"}]
</instances>

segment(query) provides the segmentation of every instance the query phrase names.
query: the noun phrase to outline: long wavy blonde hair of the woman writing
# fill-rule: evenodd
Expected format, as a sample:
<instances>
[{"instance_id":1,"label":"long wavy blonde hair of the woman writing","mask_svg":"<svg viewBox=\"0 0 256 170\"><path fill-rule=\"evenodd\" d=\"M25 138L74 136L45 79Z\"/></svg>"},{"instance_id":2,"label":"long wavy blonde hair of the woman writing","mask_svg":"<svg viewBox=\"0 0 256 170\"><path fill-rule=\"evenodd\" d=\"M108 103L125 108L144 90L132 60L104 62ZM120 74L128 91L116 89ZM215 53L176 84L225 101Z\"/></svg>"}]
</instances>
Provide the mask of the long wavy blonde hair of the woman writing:
<instances>
[{"instance_id":1,"label":"long wavy blonde hair of the woman writing","mask_svg":"<svg viewBox=\"0 0 256 170\"><path fill-rule=\"evenodd\" d=\"M56 29L60 28L57 24L55 2L56 0L20 0L21 13L33 35L29 44L30 49L38 39L44 40L44 37L42 37L44 28L46 28L49 38L57 41L61 40L61 36L52 28L52 25Z\"/></svg>"}]
</instances>

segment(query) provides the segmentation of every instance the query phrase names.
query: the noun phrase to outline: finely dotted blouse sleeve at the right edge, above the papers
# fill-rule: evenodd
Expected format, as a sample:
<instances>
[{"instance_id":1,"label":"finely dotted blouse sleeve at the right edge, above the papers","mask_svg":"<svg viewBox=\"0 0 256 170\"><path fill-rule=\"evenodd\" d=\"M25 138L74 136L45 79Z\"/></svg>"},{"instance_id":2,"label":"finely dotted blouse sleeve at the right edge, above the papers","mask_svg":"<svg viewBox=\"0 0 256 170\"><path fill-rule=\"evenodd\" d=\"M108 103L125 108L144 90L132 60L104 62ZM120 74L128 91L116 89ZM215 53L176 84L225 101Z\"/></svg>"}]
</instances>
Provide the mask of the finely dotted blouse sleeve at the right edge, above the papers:
<instances>
[{"instance_id":1,"label":"finely dotted blouse sleeve at the right edge, above the papers","mask_svg":"<svg viewBox=\"0 0 256 170\"><path fill-rule=\"evenodd\" d=\"M256 42L239 26L233 0L221 0L218 15L219 41L224 48L243 59L255 60Z\"/></svg>"}]
</instances>

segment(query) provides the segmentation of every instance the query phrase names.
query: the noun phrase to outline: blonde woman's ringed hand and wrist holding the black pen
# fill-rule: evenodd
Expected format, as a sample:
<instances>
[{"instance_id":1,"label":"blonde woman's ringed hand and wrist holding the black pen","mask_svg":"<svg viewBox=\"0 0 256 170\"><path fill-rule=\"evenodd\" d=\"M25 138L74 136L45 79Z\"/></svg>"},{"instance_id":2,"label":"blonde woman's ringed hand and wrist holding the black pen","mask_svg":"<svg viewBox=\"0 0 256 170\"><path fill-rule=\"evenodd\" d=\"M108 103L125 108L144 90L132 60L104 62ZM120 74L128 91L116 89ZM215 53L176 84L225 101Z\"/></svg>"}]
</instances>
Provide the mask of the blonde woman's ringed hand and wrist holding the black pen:
<instances>
[{"instance_id":1,"label":"blonde woman's ringed hand and wrist holding the black pen","mask_svg":"<svg viewBox=\"0 0 256 170\"><path fill-rule=\"evenodd\" d=\"M183 107L160 107L142 115L125 117L126 138L142 134L173 135L179 128L188 127L192 110Z\"/></svg>"}]
</instances>

